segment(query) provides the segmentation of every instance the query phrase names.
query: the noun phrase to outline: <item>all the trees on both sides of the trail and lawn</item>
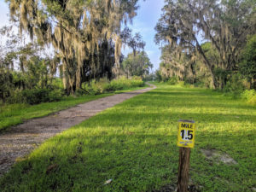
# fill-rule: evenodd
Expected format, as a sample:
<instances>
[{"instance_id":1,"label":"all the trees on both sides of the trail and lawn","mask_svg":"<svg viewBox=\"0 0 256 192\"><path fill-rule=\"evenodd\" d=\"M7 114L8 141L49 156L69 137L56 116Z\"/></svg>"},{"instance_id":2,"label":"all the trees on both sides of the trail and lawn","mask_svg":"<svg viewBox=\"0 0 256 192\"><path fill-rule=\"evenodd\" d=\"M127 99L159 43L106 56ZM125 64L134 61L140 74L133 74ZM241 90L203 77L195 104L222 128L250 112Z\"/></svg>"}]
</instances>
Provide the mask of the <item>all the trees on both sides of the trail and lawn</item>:
<instances>
[{"instance_id":1,"label":"all the trees on both sides of the trail and lawn","mask_svg":"<svg viewBox=\"0 0 256 192\"><path fill-rule=\"evenodd\" d=\"M137 1L7 2L13 26L1 29L2 102L34 94L49 102L121 76L255 95L254 0L166 1L154 37L160 68L150 75L146 43L127 26ZM127 58L122 46L131 49Z\"/></svg>"}]
</instances>

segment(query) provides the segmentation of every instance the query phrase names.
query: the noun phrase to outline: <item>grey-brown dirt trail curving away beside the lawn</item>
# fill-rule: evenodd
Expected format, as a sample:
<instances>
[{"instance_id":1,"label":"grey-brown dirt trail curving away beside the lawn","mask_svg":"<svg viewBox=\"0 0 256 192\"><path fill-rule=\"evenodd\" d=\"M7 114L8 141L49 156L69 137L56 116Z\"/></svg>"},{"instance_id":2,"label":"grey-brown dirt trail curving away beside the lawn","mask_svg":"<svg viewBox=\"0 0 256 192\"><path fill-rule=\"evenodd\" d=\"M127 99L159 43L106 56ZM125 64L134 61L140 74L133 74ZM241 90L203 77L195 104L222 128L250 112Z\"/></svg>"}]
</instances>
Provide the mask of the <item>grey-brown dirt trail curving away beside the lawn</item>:
<instances>
[{"instance_id":1,"label":"grey-brown dirt trail curving away beside the lawn","mask_svg":"<svg viewBox=\"0 0 256 192\"><path fill-rule=\"evenodd\" d=\"M47 117L31 119L23 124L11 127L9 131L0 135L0 177L9 171L17 158L29 154L49 137L53 137L73 125L78 125L85 119L96 115L96 113L155 88L154 85L149 85L151 85L150 88L85 102Z\"/></svg>"}]
</instances>

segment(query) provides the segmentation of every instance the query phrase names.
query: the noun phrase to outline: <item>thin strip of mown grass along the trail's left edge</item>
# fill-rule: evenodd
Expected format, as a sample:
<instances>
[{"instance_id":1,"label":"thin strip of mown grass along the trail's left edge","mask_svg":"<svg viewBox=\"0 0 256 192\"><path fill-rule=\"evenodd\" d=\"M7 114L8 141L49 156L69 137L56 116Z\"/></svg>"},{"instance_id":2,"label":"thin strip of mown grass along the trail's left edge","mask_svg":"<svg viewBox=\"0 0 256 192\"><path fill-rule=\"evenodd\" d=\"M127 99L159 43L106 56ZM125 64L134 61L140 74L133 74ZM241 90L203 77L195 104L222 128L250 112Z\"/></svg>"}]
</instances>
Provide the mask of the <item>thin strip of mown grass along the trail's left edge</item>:
<instances>
[{"instance_id":1,"label":"thin strip of mown grass along the trail's left edge","mask_svg":"<svg viewBox=\"0 0 256 192\"><path fill-rule=\"evenodd\" d=\"M146 84L145 87L148 87ZM78 96L78 97L65 97L60 102L44 102L38 105L27 104L12 104L12 105L0 105L0 132L12 125L18 125L24 120L43 117L50 113L55 113L66 108L73 107L83 102L90 102L105 96L111 96L122 92L128 92L131 90L140 90L142 87L117 90L114 93L101 94L96 96Z\"/></svg>"}]
</instances>

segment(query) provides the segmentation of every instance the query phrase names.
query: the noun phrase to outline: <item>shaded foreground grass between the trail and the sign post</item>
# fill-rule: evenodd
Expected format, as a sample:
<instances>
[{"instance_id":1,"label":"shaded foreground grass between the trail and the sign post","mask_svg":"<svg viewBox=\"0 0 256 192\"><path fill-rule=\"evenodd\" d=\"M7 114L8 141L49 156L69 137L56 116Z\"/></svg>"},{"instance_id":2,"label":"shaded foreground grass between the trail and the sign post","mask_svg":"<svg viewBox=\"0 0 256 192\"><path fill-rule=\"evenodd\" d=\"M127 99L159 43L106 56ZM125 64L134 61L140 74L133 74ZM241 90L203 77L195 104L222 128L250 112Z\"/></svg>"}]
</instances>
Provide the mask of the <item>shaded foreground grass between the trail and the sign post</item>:
<instances>
[{"instance_id":1,"label":"shaded foreground grass between the trail and the sign post","mask_svg":"<svg viewBox=\"0 0 256 192\"><path fill-rule=\"evenodd\" d=\"M170 156L177 148L165 136L111 134L102 140L84 133L79 139L55 137L39 150L41 153L34 152L0 180L3 191L154 189L160 180L172 180L169 173L177 170L177 153ZM113 183L104 185L108 179Z\"/></svg>"}]
</instances>

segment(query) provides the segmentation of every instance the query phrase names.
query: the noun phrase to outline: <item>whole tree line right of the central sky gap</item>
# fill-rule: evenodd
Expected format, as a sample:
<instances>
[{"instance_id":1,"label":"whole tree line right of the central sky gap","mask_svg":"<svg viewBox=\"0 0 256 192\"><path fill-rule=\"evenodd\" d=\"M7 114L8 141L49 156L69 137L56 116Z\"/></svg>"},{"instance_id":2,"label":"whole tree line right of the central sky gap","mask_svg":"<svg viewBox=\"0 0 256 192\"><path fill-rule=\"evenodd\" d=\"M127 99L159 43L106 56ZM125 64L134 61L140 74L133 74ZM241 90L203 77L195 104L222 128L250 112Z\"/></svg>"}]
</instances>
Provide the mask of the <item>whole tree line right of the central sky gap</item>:
<instances>
[{"instance_id":1,"label":"whole tree line right of the central sky gap","mask_svg":"<svg viewBox=\"0 0 256 192\"><path fill-rule=\"evenodd\" d=\"M155 30L160 79L256 88L255 0L166 0Z\"/></svg>"}]
</instances>

